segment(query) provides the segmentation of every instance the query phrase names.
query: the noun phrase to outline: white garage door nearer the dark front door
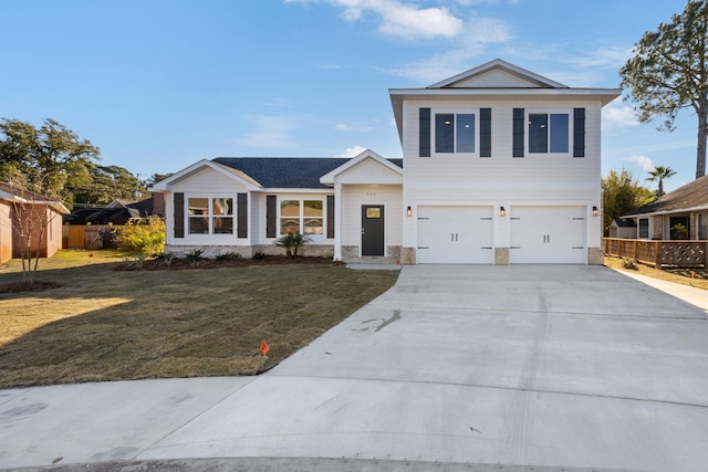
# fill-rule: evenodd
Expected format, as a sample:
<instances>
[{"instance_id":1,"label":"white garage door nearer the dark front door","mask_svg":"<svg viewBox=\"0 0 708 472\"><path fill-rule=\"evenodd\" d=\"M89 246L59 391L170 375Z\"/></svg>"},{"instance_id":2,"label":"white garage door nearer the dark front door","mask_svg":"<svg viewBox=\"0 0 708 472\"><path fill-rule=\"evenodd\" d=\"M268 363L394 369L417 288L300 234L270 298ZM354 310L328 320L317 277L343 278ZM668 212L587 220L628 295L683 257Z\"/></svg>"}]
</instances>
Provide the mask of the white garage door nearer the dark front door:
<instances>
[{"instance_id":1,"label":"white garage door nearer the dark front door","mask_svg":"<svg viewBox=\"0 0 708 472\"><path fill-rule=\"evenodd\" d=\"M417 262L491 264L492 207L418 207Z\"/></svg>"}]
</instances>

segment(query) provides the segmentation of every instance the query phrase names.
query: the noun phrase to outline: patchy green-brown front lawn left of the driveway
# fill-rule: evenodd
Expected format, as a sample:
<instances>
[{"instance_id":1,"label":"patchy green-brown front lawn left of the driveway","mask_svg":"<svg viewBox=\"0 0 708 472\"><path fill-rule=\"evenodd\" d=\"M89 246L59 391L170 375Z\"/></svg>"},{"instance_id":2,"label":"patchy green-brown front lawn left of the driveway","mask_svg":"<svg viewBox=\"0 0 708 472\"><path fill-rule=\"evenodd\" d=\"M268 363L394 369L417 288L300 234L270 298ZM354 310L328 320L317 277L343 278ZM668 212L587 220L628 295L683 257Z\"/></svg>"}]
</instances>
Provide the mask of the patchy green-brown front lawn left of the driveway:
<instances>
[{"instance_id":1,"label":"patchy green-brown front lawn left of the driveway","mask_svg":"<svg viewBox=\"0 0 708 472\"><path fill-rule=\"evenodd\" d=\"M115 271L121 262L115 251L62 251L38 275L62 286L0 294L0 388L253 375L397 277L310 264ZM0 284L19 280L18 268L0 268Z\"/></svg>"}]
</instances>

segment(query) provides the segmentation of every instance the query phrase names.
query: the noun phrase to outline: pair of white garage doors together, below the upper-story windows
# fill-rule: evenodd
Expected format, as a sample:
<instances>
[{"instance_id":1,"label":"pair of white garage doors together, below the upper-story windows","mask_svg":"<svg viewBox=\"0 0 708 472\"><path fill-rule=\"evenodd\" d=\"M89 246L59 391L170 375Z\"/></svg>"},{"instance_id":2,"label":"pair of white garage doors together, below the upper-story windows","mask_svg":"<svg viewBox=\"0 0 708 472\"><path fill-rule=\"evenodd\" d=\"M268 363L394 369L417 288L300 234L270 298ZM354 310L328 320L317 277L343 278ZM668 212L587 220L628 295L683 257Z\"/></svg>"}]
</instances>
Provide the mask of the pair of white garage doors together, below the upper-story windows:
<instances>
[{"instance_id":1,"label":"pair of white garage doors together, below the upper-story windows","mask_svg":"<svg viewBox=\"0 0 708 472\"><path fill-rule=\"evenodd\" d=\"M513 206L504 216L492 206L421 206L417 216L420 264L493 264L496 224L503 224L511 264L587 261L584 206Z\"/></svg>"}]
</instances>

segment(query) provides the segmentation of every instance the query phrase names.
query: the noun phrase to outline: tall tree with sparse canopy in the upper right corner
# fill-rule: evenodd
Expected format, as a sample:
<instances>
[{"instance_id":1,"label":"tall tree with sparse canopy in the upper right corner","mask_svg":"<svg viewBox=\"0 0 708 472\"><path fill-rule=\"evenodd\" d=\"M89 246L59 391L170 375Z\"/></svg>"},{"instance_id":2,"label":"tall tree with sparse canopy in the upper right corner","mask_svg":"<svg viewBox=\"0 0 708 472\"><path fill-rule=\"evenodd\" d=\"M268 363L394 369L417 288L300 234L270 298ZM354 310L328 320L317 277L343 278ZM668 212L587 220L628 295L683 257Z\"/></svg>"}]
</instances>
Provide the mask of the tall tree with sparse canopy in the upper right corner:
<instances>
[{"instance_id":1,"label":"tall tree with sparse canopy in the upper right corner","mask_svg":"<svg viewBox=\"0 0 708 472\"><path fill-rule=\"evenodd\" d=\"M689 0L680 14L646 32L635 45L634 56L621 69L621 86L629 88L641 123L665 117L660 130L675 129L683 108L698 118L696 178L706 175L708 137L708 3Z\"/></svg>"}]
</instances>

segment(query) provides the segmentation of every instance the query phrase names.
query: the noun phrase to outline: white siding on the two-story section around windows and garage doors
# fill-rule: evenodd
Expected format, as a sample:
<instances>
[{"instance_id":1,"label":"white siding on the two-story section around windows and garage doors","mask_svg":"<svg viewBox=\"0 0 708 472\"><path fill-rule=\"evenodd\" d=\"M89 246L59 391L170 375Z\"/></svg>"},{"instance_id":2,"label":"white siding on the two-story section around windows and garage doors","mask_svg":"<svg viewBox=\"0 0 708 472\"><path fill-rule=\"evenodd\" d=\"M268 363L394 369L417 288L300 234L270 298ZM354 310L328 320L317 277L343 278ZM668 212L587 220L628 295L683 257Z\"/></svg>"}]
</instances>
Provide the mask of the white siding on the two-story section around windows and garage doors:
<instances>
[{"instance_id":1,"label":"white siding on the two-story section around windows and garage doors","mask_svg":"<svg viewBox=\"0 0 708 472\"><path fill-rule=\"evenodd\" d=\"M418 157L418 111L431 108L491 108L491 157ZM585 157L572 157L573 108L585 108ZM564 109L570 115L571 155L529 155L512 157L513 108ZM500 218L500 206L574 204L587 209L601 204L600 171L601 103L592 99L502 99L467 97L450 99L409 99L404 104L404 207L430 204L486 206L494 208L494 247L509 247L509 221ZM528 128L524 125L524 132ZM414 221L404 220L406 248L417 244ZM601 244L600 218L586 222L587 247Z\"/></svg>"}]
</instances>

